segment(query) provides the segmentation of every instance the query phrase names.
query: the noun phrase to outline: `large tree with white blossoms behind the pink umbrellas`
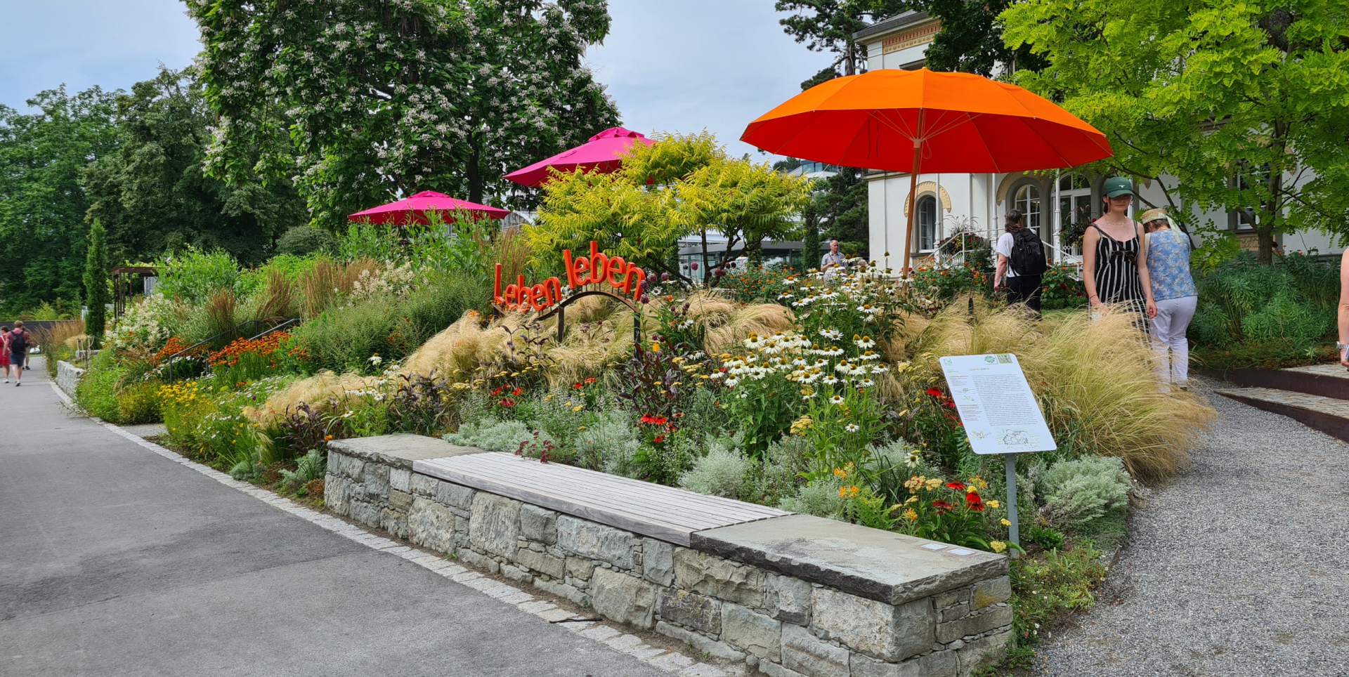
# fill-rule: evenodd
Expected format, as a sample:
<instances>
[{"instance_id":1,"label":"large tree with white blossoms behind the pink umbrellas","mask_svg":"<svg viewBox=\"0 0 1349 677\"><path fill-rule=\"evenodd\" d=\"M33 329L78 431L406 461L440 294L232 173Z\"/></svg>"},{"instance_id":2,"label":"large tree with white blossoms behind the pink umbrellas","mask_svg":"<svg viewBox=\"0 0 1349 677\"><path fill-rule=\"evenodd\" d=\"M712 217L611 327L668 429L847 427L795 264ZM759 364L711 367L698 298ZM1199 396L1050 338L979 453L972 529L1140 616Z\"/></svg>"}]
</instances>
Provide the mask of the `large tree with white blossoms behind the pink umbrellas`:
<instances>
[{"instance_id":1,"label":"large tree with white blossoms behind the pink umbrellas","mask_svg":"<svg viewBox=\"0 0 1349 677\"><path fill-rule=\"evenodd\" d=\"M291 177L317 223L428 189L502 201L502 174L618 124L581 65L602 0L186 1L210 169Z\"/></svg>"}]
</instances>

